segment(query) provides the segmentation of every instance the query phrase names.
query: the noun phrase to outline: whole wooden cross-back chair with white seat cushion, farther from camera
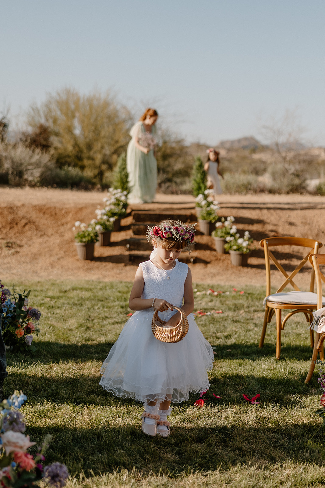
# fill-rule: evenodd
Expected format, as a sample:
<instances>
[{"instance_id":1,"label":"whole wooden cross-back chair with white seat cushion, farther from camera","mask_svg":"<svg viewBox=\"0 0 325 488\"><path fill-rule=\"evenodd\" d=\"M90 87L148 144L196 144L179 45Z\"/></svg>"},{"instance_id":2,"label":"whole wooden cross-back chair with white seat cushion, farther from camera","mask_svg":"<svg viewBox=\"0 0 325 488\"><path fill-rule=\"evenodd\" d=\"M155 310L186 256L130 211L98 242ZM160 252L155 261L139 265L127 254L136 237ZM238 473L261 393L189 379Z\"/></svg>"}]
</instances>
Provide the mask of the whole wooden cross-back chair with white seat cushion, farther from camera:
<instances>
[{"instance_id":1,"label":"whole wooden cross-back chair with white seat cushion, farther from camera","mask_svg":"<svg viewBox=\"0 0 325 488\"><path fill-rule=\"evenodd\" d=\"M292 315L302 312L306 316L309 324L313 320L312 311L317 309L317 294L313 293L315 284L315 272L314 268L310 271L310 286L309 291L301 291L300 288L294 282L296 274L305 266L308 261L308 257L311 254L317 254L318 249L322 247L319 241L314 239L304 239L301 237L269 237L268 239L262 239L260 245L264 248L265 255L265 269L267 275L267 294L264 299L265 316L264 324L261 334L261 340L259 347L263 347L265 334L268 323L271 321L273 315L276 317L276 359L280 359L281 352L281 330L284 329L287 320ZM270 247L273 246L299 246L309 248L306 256L296 266L296 268L289 274L284 267L278 262L273 253L270 251ZM270 263L273 262L278 270L283 274L285 278L282 285L277 289L276 293L271 294L271 267ZM283 290L287 285L291 285L294 291L284 292ZM282 310L291 310L285 318L281 319ZM314 346L314 334L310 330L310 346Z\"/></svg>"}]
</instances>

